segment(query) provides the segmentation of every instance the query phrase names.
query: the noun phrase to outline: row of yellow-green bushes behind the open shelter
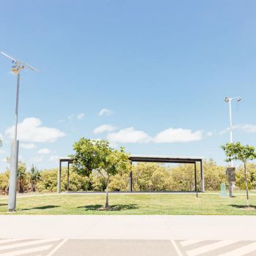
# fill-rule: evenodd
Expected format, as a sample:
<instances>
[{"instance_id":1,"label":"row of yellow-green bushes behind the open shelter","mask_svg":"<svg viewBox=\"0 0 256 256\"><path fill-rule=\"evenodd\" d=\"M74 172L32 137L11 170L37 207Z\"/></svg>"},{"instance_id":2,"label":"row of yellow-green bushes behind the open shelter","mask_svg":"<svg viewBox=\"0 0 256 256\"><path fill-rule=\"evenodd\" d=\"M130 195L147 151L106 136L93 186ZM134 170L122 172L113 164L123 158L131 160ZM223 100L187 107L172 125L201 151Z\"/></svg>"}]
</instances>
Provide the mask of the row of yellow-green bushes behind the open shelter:
<instances>
[{"instance_id":1,"label":"row of yellow-green bushes behind the open shelter","mask_svg":"<svg viewBox=\"0 0 256 256\"><path fill-rule=\"evenodd\" d=\"M18 192L56 192L57 169L41 170L35 168L26 170L26 165L19 164ZM199 166L198 166L198 169ZM204 162L205 187L208 191L219 190L220 184L227 183L225 167L217 165L213 160ZM9 171L0 173L0 192L8 191ZM256 188L256 165L248 166L249 189ZM195 190L194 165L166 165L154 163L139 163L132 170L134 191L192 191ZM236 171L236 187L245 189L244 171ZM200 172L197 172L197 188L200 188ZM67 189L67 169L63 168L61 175L61 190ZM127 191L129 189L129 173L118 173L110 180L111 191ZM70 191L104 191L105 181L97 172L90 176L81 176L70 170Z\"/></svg>"}]
</instances>

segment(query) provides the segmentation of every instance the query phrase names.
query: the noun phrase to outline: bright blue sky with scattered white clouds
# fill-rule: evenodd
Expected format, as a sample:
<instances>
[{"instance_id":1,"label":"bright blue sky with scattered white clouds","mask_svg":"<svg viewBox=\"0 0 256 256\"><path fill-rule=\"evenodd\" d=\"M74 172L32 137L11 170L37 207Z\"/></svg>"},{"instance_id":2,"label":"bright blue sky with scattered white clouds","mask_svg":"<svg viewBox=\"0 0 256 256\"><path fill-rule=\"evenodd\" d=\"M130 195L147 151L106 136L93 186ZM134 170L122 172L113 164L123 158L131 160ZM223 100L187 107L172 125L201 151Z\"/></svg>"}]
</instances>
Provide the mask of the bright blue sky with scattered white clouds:
<instances>
[{"instance_id":1,"label":"bright blue sky with scattered white clouds","mask_svg":"<svg viewBox=\"0 0 256 256\"><path fill-rule=\"evenodd\" d=\"M255 1L8 1L1 10L0 50L39 69L20 80L27 165L56 167L82 136L222 164L226 96L242 97L234 140L256 146ZM14 123L10 68L1 56L0 170Z\"/></svg>"}]
</instances>

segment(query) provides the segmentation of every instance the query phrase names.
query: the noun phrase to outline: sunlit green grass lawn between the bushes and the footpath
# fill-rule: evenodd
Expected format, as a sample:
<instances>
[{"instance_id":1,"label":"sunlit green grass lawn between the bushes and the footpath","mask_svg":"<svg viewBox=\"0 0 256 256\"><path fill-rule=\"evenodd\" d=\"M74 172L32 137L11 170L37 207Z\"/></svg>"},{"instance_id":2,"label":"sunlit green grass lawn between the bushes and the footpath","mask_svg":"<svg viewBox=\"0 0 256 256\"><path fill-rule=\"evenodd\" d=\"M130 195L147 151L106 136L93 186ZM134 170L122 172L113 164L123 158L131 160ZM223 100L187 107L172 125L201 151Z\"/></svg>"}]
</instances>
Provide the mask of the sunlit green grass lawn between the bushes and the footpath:
<instances>
[{"instance_id":1,"label":"sunlit green grass lawn between the bushes and the footpath","mask_svg":"<svg viewBox=\"0 0 256 256\"><path fill-rule=\"evenodd\" d=\"M256 215L256 196L245 208L246 197L237 195L154 194L110 195L111 211L99 211L105 195L37 195L17 200L15 214L177 214L177 215ZM0 200L0 214L7 214L7 199Z\"/></svg>"}]
</instances>

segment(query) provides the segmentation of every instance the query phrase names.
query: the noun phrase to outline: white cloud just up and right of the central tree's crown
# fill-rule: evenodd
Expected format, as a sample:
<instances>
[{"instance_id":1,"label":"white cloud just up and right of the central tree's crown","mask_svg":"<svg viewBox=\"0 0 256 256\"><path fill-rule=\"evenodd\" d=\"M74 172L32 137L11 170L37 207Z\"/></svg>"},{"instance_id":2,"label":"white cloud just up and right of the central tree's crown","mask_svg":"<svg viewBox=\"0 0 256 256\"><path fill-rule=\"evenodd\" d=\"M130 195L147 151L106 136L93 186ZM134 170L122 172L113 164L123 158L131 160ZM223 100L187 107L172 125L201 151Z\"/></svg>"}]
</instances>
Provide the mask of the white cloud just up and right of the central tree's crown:
<instances>
[{"instance_id":1,"label":"white cloud just up and right of the central tree's crown","mask_svg":"<svg viewBox=\"0 0 256 256\"><path fill-rule=\"evenodd\" d=\"M146 132L135 130L133 127L110 133L107 139L112 143L146 143L151 140Z\"/></svg>"}]
</instances>

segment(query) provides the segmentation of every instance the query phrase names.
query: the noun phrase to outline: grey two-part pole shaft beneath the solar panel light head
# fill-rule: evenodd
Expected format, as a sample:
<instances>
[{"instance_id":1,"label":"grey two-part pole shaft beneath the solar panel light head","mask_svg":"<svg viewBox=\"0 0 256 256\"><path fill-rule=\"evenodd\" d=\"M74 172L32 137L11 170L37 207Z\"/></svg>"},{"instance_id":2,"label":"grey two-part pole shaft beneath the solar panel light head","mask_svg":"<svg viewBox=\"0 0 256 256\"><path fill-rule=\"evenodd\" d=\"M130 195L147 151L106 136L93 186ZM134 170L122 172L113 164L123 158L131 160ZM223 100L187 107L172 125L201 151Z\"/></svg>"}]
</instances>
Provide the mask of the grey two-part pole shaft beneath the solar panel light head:
<instances>
[{"instance_id":1,"label":"grey two-part pole shaft beneath the solar panel light head","mask_svg":"<svg viewBox=\"0 0 256 256\"><path fill-rule=\"evenodd\" d=\"M20 70L18 70L18 75L17 75L16 108L15 108L15 139L12 140L12 147L11 147L8 211L15 211L15 208L16 208L18 151L19 151L19 141L17 140L19 93L20 93Z\"/></svg>"}]
</instances>

